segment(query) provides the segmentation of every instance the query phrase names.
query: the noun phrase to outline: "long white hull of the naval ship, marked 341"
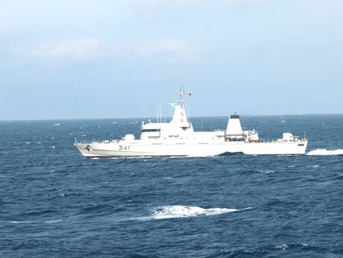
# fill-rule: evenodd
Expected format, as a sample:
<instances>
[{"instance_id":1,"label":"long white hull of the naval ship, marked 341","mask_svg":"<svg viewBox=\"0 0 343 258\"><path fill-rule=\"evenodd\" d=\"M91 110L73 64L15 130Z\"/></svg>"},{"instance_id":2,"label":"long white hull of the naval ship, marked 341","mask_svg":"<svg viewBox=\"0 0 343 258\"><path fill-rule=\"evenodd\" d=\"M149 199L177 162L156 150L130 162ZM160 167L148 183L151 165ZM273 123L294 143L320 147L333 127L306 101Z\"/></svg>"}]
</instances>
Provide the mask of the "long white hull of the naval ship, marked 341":
<instances>
[{"instance_id":1,"label":"long white hull of the naval ship, marked 341","mask_svg":"<svg viewBox=\"0 0 343 258\"><path fill-rule=\"evenodd\" d=\"M86 158L93 157L145 157L145 156L216 156L225 152L242 152L249 155L297 155L304 154L307 141L297 142L244 142L222 143L150 143L136 142L88 144L76 143ZM89 146L89 147L87 147Z\"/></svg>"}]
</instances>

